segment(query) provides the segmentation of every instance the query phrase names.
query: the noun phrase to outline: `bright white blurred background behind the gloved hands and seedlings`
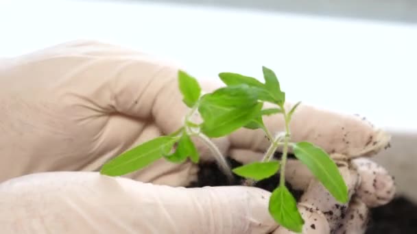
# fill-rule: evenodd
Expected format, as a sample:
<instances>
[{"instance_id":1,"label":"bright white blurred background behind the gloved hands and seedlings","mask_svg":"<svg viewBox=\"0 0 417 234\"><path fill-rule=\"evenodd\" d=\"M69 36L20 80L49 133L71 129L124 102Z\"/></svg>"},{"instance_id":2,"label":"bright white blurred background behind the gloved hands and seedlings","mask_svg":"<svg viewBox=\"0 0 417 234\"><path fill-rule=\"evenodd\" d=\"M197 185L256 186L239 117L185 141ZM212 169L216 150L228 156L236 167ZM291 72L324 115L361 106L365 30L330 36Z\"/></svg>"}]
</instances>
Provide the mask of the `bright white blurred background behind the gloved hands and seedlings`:
<instances>
[{"instance_id":1,"label":"bright white blurred background behind the gloved hands and seedlings","mask_svg":"<svg viewBox=\"0 0 417 234\"><path fill-rule=\"evenodd\" d=\"M69 40L121 44L197 77L276 71L289 101L394 135L377 157L417 200L417 1L0 1L0 57Z\"/></svg>"}]
</instances>

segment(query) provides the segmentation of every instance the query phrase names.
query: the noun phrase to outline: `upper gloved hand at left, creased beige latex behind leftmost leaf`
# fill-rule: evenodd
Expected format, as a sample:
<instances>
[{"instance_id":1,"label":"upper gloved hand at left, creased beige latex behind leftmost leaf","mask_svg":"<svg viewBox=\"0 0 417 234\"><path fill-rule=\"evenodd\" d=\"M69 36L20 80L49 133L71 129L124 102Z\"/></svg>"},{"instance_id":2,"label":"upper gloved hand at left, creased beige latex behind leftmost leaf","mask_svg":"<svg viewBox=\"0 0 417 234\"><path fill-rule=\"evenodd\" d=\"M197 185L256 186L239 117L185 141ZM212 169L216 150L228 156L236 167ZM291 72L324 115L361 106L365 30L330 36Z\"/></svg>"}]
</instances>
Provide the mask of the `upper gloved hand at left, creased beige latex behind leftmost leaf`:
<instances>
[{"instance_id":1,"label":"upper gloved hand at left, creased beige latex behind leftmost leaf","mask_svg":"<svg viewBox=\"0 0 417 234\"><path fill-rule=\"evenodd\" d=\"M142 142L175 131L177 67L91 41L58 44L0 68L0 181L45 171L95 171ZM133 179L182 185L189 165L160 164ZM172 177L174 175L174 177ZM167 179L168 178L168 179Z\"/></svg>"}]
</instances>

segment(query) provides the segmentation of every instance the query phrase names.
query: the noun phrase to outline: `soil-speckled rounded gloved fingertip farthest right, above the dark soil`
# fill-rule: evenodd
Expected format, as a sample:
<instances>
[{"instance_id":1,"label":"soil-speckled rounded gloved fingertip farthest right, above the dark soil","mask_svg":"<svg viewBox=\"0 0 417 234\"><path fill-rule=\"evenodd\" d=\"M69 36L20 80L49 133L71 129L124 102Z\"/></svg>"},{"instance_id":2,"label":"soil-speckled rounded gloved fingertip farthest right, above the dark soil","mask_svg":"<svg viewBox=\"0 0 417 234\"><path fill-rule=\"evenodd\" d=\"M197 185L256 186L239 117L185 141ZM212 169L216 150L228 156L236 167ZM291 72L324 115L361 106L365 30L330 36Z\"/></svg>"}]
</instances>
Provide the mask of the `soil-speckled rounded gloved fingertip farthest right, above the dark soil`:
<instances>
[{"instance_id":1,"label":"soil-speckled rounded gloved fingertip farthest right, above the dark soil","mask_svg":"<svg viewBox=\"0 0 417 234\"><path fill-rule=\"evenodd\" d=\"M352 163L361 177L356 195L362 202L368 207L379 207L394 198L394 178L385 168L366 158L354 159Z\"/></svg>"}]
</instances>

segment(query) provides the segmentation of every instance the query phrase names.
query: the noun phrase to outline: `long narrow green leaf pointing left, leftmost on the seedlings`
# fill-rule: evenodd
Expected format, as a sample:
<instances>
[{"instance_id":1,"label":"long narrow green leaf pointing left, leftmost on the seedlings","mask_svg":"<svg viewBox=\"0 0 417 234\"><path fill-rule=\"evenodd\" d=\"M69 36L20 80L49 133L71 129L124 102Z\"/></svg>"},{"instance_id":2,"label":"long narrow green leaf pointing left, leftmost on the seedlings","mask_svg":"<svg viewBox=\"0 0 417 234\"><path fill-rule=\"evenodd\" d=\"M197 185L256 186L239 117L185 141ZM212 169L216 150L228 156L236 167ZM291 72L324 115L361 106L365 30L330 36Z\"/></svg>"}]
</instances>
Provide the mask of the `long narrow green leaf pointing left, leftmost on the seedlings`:
<instances>
[{"instance_id":1,"label":"long narrow green leaf pointing left, leftmost on the seedlings","mask_svg":"<svg viewBox=\"0 0 417 234\"><path fill-rule=\"evenodd\" d=\"M100 173L109 176L121 176L145 168L145 166L163 157L167 148L174 146L175 142L175 138L169 136L162 136L145 142L108 161L104 164Z\"/></svg>"}]
</instances>

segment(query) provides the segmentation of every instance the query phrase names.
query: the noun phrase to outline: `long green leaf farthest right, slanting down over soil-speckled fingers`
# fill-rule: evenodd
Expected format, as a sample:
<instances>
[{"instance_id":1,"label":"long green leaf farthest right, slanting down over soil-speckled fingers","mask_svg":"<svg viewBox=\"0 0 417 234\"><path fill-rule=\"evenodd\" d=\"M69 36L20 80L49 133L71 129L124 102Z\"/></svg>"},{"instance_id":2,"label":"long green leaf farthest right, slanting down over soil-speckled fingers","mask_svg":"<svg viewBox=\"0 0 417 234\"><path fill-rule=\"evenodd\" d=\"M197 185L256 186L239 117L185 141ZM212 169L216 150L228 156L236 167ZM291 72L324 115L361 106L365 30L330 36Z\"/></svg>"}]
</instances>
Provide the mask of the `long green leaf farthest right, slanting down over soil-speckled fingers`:
<instances>
[{"instance_id":1,"label":"long green leaf farthest right, slanting down over soil-speckled fingers","mask_svg":"<svg viewBox=\"0 0 417 234\"><path fill-rule=\"evenodd\" d=\"M340 203L348 202L348 187L335 162L329 155L310 142L294 144L294 155L304 163L314 176Z\"/></svg>"}]
</instances>

